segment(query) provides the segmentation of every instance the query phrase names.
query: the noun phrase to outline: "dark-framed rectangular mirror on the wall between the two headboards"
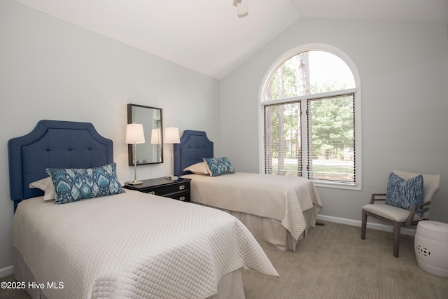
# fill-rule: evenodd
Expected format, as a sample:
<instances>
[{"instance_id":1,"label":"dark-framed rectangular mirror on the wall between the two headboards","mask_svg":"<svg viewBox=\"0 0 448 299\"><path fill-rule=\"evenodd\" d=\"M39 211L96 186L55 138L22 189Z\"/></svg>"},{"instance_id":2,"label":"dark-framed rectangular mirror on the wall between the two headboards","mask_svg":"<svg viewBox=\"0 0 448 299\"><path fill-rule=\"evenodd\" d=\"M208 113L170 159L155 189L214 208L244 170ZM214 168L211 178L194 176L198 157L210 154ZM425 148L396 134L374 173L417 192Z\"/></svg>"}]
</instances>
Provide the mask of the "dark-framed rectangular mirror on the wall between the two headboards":
<instances>
[{"instance_id":1,"label":"dark-framed rectangular mirror on the wall between the two headboards","mask_svg":"<svg viewBox=\"0 0 448 299\"><path fill-rule=\"evenodd\" d=\"M127 104L127 123L141 123L145 143L137 144L137 165L163 162L162 109ZM134 166L133 145L128 145L129 165Z\"/></svg>"}]
</instances>

